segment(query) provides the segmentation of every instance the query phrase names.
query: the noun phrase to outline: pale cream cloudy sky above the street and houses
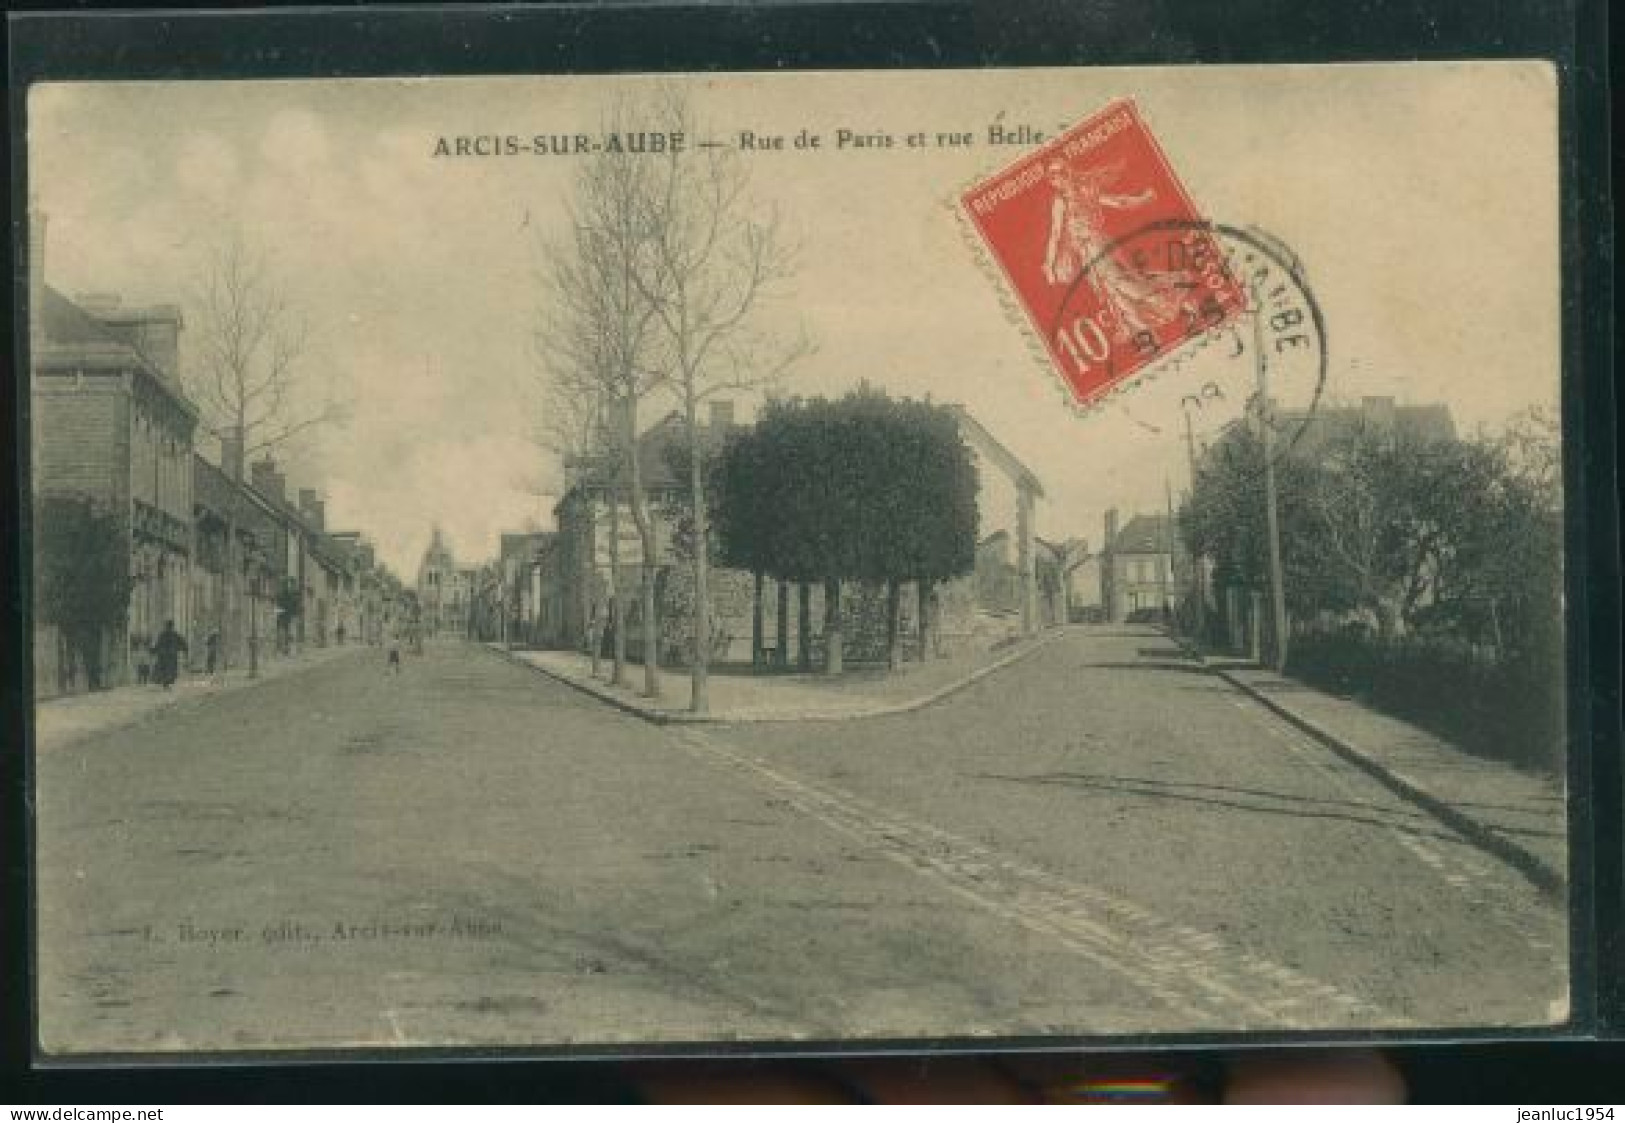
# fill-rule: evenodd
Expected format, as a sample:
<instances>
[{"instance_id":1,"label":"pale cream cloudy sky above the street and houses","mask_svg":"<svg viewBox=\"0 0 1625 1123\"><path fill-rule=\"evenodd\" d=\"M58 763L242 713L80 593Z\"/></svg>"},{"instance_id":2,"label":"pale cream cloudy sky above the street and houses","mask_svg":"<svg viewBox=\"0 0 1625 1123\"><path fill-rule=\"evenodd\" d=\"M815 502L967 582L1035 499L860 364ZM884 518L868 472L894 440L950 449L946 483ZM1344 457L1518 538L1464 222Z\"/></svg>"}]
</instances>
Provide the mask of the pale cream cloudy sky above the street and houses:
<instances>
[{"instance_id":1,"label":"pale cream cloudy sky above the street and houses","mask_svg":"<svg viewBox=\"0 0 1625 1123\"><path fill-rule=\"evenodd\" d=\"M301 405L346 406L289 450L289 484L323 491L328 525L367 533L406 579L436 525L473 564L502 530L552 523L533 336L578 166L436 148L596 132L661 81L708 138L786 138L741 156L752 205L798 247L762 327L816 341L778 392L868 380L965 405L1043 481L1046 538L1098 543L1108 507L1157 512L1186 486L1181 387L1064 405L951 205L1029 151L986 143L994 122L1053 135L1136 99L1206 218L1303 263L1328 400L1443 401L1464 434L1557 405L1557 89L1540 63L36 86L46 280L177 302L195 325L200 265L240 232L309 327ZM798 150L803 128L824 146ZM895 143L837 150L842 128ZM975 143L908 148L920 130Z\"/></svg>"}]
</instances>

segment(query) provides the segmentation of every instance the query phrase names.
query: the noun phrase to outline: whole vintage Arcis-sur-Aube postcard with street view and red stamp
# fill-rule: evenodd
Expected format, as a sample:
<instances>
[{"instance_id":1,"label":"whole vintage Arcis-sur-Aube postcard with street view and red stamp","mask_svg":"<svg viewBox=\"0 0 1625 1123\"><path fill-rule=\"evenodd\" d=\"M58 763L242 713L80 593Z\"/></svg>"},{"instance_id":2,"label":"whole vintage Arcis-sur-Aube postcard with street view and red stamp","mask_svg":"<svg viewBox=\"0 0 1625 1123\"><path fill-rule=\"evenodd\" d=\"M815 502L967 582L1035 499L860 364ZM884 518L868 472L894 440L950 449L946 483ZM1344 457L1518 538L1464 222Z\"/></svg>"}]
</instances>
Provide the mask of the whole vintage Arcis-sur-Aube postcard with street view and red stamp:
<instances>
[{"instance_id":1,"label":"whole vintage Arcis-sur-Aube postcard with street view and red stamp","mask_svg":"<svg viewBox=\"0 0 1625 1123\"><path fill-rule=\"evenodd\" d=\"M44 1055L1566 1024L1550 65L26 146Z\"/></svg>"}]
</instances>

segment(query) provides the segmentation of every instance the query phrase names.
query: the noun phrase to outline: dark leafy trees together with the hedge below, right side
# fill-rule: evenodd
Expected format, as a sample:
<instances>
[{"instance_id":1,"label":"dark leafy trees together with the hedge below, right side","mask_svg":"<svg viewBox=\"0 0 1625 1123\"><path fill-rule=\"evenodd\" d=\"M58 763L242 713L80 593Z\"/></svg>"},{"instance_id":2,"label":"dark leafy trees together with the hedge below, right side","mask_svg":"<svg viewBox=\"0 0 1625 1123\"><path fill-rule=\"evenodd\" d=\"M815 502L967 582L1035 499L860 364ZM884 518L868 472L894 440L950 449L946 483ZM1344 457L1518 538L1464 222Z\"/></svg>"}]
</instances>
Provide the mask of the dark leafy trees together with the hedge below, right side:
<instances>
[{"instance_id":1,"label":"dark leafy trees together with the hedge below, right side","mask_svg":"<svg viewBox=\"0 0 1625 1123\"><path fill-rule=\"evenodd\" d=\"M1209 449L1181 512L1216 588L1264 588L1263 449ZM1562 486L1554 418L1497 436L1308 431L1276 463L1292 674L1467 748L1550 765L1560 744Z\"/></svg>"}]
</instances>

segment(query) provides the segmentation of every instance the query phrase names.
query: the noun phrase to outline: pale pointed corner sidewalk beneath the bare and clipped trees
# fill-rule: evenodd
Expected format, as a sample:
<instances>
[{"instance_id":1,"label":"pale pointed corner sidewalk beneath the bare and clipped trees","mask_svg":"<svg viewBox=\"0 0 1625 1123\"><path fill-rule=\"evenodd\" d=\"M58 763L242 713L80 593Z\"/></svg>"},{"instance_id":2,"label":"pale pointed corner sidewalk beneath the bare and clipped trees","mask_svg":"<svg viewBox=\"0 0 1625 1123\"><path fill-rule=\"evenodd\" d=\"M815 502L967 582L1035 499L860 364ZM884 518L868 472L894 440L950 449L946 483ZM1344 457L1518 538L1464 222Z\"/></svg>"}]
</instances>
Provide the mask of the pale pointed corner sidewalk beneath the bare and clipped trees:
<instances>
[{"instance_id":1,"label":"pale pointed corner sidewalk beneath the bare and clipped trees","mask_svg":"<svg viewBox=\"0 0 1625 1123\"><path fill-rule=\"evenodd\" d=\"M905 663L890 673L881 668L850 670L834 679L817 673L752 674L749 670L713 670L710 713L704 717L689 713L687 671L661 671L663 696L652 700L639 694L644 668L635 663L627 665L627 686L614 687L604 681L609 660L603 661L604 678L593 678L592 660L577 652L510 652L499 644L488 647L650 722L847 722L918 710L1038 652L1063 631L1050 629L994 650Z\"/></svg>"}]
</instances>

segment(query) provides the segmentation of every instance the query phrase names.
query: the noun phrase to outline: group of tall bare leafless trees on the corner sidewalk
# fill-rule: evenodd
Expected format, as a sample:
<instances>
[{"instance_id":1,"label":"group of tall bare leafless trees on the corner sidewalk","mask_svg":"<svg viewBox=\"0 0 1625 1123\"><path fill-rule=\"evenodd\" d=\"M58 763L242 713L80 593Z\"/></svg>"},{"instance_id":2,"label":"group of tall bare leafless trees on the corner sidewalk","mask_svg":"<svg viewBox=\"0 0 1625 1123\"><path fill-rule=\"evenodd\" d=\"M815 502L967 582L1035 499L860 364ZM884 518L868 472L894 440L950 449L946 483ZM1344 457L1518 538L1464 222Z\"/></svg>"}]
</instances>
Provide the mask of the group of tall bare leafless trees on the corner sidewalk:
<instances>
[{"instance_id":1,"label":"group of tall bare leafless trees on the corner sidewalk","mask_svg":"<svg viewBox=\"0 0 1625 1123\"><path fill-rule=\"evenodd\" d=\"M666 93L650 106L622 104L606 133L700 135L686 101ZM660 694L656 541L639 418L656 397L679 410L689 449L689 509L707 541L702 410L718 395L772 385L809 353L804 335L775 336L764 312L793 275L793 252L777 215L749 193L738 153L670 146L658 154L604 151L580 164L569 226L541 247L543 310L536 354L544 385L544 440L574 463L608 466L611 520L622 496L642 546L644 692ZM622 587L619 527L609 528L611 585ZM692 553L692 579L707 588L708 551ZM708 598L694 605L691 699L708 709ZM621 613L621 618L626 614ZM626 629L616 627L614 679L624 681Z\"/></svg>"}]
</instances>

